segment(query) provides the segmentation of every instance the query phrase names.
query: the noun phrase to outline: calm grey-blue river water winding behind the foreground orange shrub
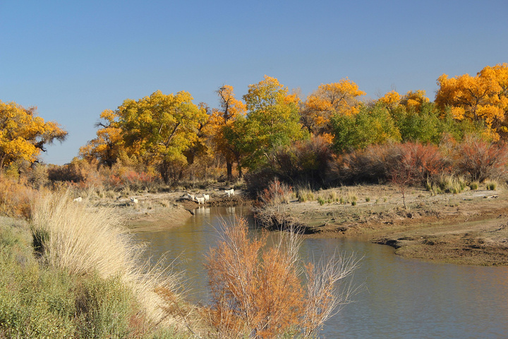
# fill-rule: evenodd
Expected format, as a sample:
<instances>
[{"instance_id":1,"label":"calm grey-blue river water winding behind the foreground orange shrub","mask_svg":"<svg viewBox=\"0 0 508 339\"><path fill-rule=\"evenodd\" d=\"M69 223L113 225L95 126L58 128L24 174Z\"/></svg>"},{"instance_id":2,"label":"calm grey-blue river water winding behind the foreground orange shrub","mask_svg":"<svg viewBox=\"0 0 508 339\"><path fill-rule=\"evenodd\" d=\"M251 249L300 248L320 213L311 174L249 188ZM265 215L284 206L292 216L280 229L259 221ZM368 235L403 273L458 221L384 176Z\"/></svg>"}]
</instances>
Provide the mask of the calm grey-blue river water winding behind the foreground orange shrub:
<instances>
[{"instance_id":1,"label":"calm grey-blue river water winding behind the foreground orange shrub","mask_svg":"<svg viewBox=\"0 0 508 339\"><path fill-rule=\"evenodd\" d=\"M217 244L222 221L242 208L200 208L186 225L136 237L153 260L176 258L186 271L191 302L207 301L205 252ZM347 239L305 239L303 256L356 252L353 283L364 287L326 324L321 338L508 338L508 267L455 266L395 256L389 246Z\"/></svg>"}]
</instances>

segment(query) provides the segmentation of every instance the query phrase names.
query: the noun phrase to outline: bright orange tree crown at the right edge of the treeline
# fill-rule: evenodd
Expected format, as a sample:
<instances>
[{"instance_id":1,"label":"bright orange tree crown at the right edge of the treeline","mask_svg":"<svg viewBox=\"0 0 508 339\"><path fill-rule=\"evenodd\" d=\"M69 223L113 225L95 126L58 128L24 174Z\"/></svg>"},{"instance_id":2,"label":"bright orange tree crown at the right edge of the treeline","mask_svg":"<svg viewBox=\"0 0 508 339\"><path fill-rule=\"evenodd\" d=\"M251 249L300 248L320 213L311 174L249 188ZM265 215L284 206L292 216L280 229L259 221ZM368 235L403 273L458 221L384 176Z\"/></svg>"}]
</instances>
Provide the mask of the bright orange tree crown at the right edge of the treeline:
<instances>
[{"instance_id":1,"label":"bright orange tree crown at the right edge of the treeline","mask_svg":"<svg viewBox=\"0 0 508 339\"><path fill-rule=\"evenodd\" d=\"M486 66L476 76L443 74L437 85L435 103L443 112L449 107L455 119L483 121L494 139L508 135L508 64Z\"/></svg>"}]
</instances>

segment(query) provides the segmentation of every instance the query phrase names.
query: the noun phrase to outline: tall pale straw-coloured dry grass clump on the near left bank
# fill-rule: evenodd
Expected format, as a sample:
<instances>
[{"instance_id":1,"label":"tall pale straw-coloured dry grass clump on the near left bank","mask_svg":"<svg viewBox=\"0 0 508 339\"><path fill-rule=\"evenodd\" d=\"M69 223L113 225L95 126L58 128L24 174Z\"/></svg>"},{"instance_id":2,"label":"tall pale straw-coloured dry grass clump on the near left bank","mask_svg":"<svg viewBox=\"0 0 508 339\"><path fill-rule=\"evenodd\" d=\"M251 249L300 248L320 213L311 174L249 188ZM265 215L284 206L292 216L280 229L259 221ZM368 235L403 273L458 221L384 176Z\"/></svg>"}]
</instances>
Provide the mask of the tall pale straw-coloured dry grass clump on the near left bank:
<instances>
[{"instance_id":1,"label":"tall pale straw-coloured dry grass clump on the near left bank","mask_svg":"<svg viewBox=\"0 0 508 339\"><path fill-rule=\"evenodd\" d=\"M33 203L31 223L35 249L49 266L78 276L119 278L134 292L147 321L171 320L155 291L161 286L176 290L178 275L150 268L142 246L112 210L75 203L68 192L46 194Z\"/></svg>"}]
</instances>

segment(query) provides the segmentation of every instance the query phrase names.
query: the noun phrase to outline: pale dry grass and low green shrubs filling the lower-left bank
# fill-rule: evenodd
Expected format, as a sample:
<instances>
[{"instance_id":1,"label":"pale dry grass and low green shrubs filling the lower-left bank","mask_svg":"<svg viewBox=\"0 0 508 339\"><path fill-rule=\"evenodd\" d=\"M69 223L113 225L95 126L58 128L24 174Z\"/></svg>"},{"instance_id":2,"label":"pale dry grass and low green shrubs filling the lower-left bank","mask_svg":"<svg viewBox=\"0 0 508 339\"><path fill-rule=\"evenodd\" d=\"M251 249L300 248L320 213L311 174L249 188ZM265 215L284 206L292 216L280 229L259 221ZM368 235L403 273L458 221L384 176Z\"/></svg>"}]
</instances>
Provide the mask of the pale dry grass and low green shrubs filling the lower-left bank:
<instances>
[{"instance_id":1,"label":"pale dry grass and low green shrubs filling the lower-left bank","mask_svg":"<svg viewBox=\"0 0 508 339\"><path fill-rule=\"evenodd\" d=\"M176 292L177 275L147 266L116 215L66 194L31 203L30 220L1 219L2 336L174 338L155 287Z\"/></svg>"}]
</instances>

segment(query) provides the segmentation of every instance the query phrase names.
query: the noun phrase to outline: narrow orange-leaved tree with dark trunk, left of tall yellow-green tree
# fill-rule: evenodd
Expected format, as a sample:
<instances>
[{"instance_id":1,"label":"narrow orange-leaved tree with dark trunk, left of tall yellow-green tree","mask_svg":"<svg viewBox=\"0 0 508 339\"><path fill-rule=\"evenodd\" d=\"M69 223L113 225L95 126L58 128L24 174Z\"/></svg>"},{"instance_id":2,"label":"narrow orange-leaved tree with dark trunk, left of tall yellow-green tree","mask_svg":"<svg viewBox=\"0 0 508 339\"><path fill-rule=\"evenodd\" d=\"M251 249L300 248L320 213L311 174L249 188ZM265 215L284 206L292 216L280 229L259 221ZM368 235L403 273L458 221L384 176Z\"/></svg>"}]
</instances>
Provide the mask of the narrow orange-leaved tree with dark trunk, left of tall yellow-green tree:
<instances>
[{"instance_id":1,"label":"narrow orange-leaved tree with dark trunk, left of tall yellow-green tree","mask_svg":"<svg viewBox=\"0 0 508 339\"><path fill-rule=\"evenodd\" d=\"M236 161L240 166L241 153L226 138L225 133L227 129L234 128L234 121L237 117L244 117L247 109L241 100L236 99L233 87L230 85L223 85L219 88L217 95L219 95L220 108L212 109L207 124L207 134L212 138L216 152L222 154L226 159L227 177L228 180L231 180L233 177L233 162ZM241 173L241 170L239 172Z\"/></svg>"}]
</instances>

